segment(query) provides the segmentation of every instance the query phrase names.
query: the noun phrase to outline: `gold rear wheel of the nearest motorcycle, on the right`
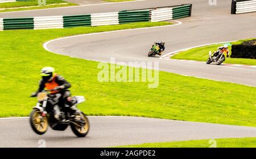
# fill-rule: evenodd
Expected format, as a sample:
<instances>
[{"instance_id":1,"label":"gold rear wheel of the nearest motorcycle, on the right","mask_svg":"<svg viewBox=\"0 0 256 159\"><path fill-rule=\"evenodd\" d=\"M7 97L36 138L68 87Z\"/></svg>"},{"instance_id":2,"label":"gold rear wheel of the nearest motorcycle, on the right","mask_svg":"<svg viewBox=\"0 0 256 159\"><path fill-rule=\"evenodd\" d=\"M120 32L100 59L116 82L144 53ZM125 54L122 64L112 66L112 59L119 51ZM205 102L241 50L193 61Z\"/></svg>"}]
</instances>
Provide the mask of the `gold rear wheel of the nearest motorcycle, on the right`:
<instances>
[{"instance_id":1,"label":"gold rear wheel of the nearest motorcycle, on the right","mask_svg":"<svg viewBox=\"0 0 256 159\"><path fill-rule=\"evenodd\" d=\"M84 119L85 119L84 127L79 127L79 126L77 126L73 123L71 124L71 129L77 137L85 137L88 134L89 129L90 129L89 119L87 118L87 116L83 112L82 112L82 115L84 115Z\"/></svg>"}]
</instances>

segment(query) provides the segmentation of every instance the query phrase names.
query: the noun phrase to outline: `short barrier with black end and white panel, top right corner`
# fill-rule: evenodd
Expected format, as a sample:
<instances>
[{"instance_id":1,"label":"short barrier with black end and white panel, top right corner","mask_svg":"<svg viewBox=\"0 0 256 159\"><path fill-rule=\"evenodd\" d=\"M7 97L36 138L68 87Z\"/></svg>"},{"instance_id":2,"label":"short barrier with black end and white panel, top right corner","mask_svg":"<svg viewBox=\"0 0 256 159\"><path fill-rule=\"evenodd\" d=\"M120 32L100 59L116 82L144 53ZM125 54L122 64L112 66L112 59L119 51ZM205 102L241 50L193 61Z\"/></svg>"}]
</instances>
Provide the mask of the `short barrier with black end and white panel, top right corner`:
<instances>
[{"instance_id":1,"label":"short barrier with black end and white panel, top right corner","mask_svg":"<svg viewBox=\"0 0 256 159\"><path fill-rule=\"evenodd\" d=\"M241 14L256 11L256 0L233 0L231 14Z\"/></svg>"}]
</instances>

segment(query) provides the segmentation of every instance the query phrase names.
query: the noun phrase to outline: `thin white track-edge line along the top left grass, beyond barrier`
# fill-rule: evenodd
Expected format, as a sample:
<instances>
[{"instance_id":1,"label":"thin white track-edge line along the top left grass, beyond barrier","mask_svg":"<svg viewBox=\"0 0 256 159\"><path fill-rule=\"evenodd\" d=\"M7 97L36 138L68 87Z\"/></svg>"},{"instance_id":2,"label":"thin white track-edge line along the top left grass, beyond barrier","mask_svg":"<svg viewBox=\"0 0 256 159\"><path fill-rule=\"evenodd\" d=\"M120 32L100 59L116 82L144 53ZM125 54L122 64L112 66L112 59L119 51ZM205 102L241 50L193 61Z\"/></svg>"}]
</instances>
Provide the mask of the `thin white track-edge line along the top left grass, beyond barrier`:
<instances>
[{"instance_id":1,"label":"thin white track-edge line along the top left grass, beyond barrier","mask_svg":"<svg viewBox=\"0 0 256 159\"><path fill-rule=\"evenodd\" d=\"M69 6L69 7L56 7L56 8L51 8L51 9L8 11L8 12L0 12L0 14L10 13L10 12L24 12L24 11L38 11L38 10L52 10L52 9L67 9L67 8L86 7L86 6L113 5L113 4L119 4L119 3L132 3L132 2L141 2L141 1L147 1L147 0L126 1L126 2L110 2L110 3L99 3L99 4L92 4L92 5Z\"/></svg>"}]
</instances>

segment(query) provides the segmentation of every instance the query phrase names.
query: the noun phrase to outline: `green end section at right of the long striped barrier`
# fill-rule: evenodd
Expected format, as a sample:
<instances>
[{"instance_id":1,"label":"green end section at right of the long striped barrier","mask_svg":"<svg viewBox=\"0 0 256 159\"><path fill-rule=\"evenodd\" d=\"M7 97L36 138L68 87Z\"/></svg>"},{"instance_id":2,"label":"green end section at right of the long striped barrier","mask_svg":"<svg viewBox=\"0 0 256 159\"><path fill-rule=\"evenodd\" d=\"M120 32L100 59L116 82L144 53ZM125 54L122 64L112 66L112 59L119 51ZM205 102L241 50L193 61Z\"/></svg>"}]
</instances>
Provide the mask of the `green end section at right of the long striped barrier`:
<instances>
[{"instance_id":1,"label":"green end section at right of the long striped barrier","mask_svg":"<svg viewBox=\"0 0 256 159\"><path fill-rule=\"evenodd\" d=\"M182 5L172 8L172 19L191 16L192 5Z\"/></svg>"}]
</instances>

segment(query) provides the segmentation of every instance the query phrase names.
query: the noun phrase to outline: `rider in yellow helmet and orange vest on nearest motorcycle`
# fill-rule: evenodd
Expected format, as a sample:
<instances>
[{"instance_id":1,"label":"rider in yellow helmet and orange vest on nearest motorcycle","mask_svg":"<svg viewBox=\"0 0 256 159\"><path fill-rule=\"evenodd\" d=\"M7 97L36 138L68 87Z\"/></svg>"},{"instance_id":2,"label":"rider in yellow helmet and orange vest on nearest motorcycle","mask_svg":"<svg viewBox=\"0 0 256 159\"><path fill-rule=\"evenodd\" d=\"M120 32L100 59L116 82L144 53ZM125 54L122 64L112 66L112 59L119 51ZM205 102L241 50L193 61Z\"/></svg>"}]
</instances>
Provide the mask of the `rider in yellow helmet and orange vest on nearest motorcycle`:
<instances>
[{"instance_id":1,"label":"rider in yellow helmet and orange vest on nearest motorcycle","mask_svg":"<svg viewBox=\"0 0 256 159\"><path fill-rule=\"evenodd\" d=\"M69 106L72 106L71 93L67 90L71 87L71 84L68 81L59 74L56 74L55 69L52 67L43 68L40 75L42 76L42 80L39 82L39 89L36 93L32 93L31 97L36 97L38 93L46 88L47 90L52 90L50 92L51 94L61 94L59 104L68 104Z\"/></svg>"}]
</instances>

